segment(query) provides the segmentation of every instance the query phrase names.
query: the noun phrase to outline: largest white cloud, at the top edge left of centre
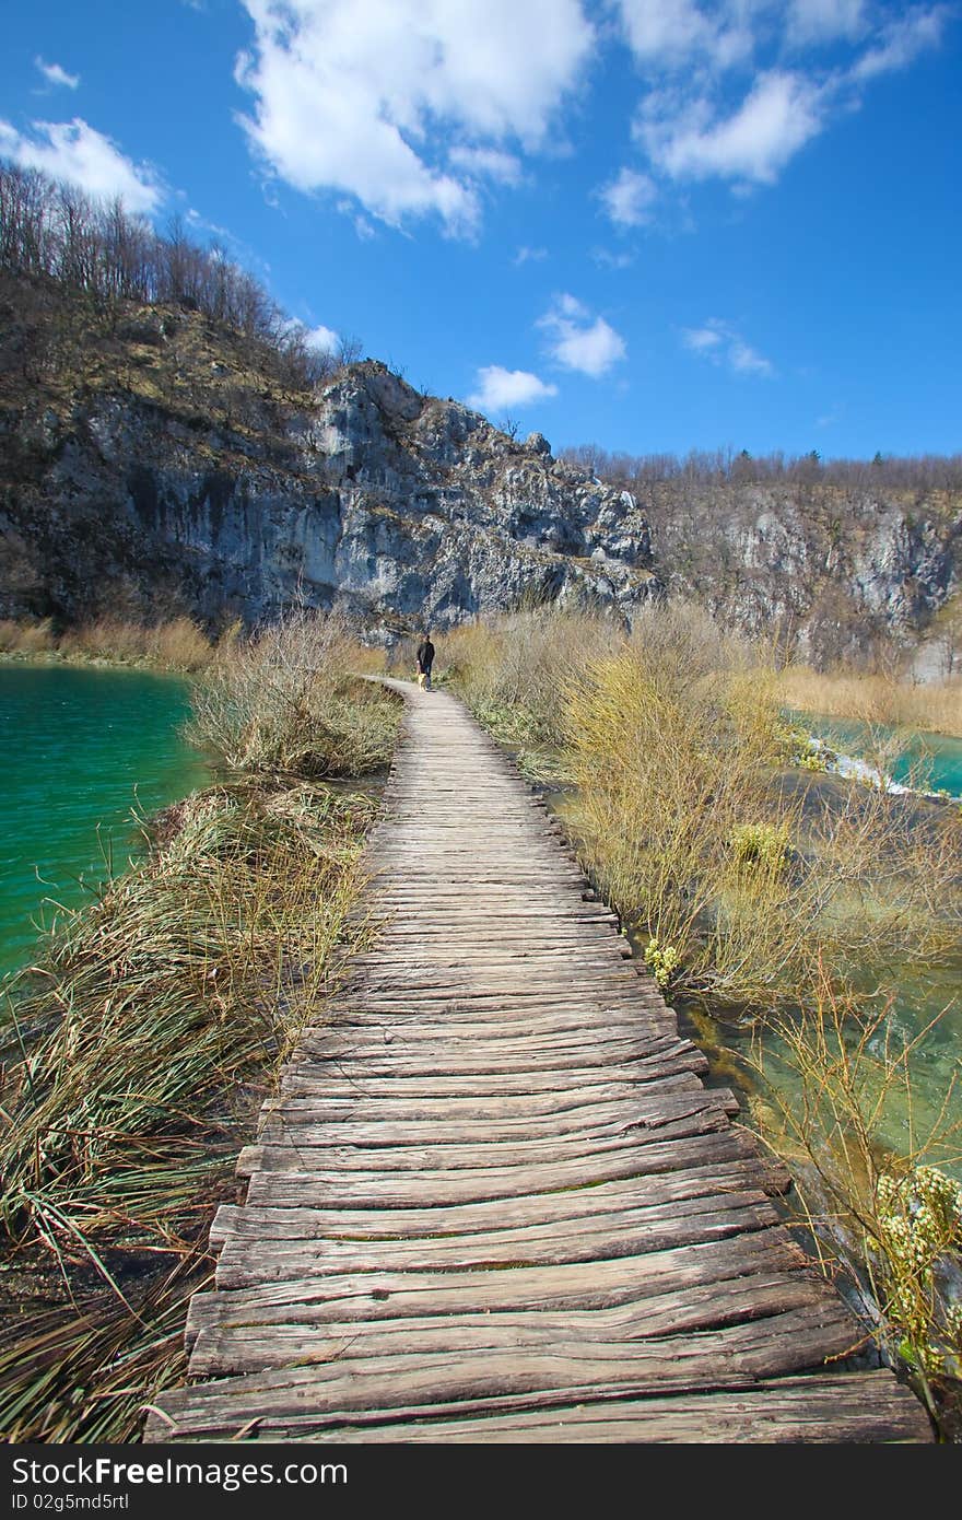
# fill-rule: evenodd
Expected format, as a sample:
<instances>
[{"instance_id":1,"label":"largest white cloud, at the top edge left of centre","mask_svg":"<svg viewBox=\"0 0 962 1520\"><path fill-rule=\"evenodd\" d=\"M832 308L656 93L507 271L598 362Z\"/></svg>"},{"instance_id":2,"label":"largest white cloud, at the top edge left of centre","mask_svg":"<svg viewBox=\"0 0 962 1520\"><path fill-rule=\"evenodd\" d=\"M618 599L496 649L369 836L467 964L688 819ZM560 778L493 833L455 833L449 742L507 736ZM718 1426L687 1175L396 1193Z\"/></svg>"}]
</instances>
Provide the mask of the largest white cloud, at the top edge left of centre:
<instances>
[{"instance_id":1,"label":"largest white cloud, at the top edge left of centre","mask_svg":"<svg viewBox=\"0 0 962 1520\"><path fill-rule=\"evenodd\" d=\"M252 147L298 190L351 195L384 222L480 217L479 172L540 147L594 46L581 0L243 0ZM468 167L459 150L502 155ZM445 167L447 161L447 167Z\"/></svg>"}]
</instances>

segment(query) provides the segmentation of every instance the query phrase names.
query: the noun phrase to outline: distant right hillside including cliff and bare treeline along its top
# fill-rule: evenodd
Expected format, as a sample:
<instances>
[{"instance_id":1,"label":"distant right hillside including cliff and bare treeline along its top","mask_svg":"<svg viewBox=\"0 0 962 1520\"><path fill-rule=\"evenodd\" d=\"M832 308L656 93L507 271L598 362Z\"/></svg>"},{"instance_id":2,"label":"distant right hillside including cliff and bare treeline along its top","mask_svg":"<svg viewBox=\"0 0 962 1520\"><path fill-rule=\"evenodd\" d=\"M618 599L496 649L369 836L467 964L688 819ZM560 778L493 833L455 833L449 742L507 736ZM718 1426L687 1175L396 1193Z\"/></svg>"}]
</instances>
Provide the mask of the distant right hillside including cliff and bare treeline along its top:
<instances>
[{"instance_id":1,"label":"distant right hillside including cliff and bare treeline along its top","mask_svg":"<svg viewBox=\"0 0 962 1520\"><path fill-rule=\"evenodd\" d=\"M957 664L962 454L565 458L634 492L669 593L816 666Z\"/></svg>"}]
</instances>

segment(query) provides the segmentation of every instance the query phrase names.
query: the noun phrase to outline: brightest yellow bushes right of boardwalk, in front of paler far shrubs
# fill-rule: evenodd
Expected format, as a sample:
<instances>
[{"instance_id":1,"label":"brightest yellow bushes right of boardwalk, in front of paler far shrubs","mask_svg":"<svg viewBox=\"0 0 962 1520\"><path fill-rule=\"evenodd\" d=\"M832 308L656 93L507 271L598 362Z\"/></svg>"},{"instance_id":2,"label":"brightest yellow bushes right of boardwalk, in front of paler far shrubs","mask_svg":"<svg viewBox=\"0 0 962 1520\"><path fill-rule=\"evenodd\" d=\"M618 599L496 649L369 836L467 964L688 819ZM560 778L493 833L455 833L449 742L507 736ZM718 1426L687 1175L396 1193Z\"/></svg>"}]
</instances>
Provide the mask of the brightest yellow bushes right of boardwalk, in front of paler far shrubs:
<instances>
[{"instance_id":1,"label":"brightest yellow bushes right of boardwalk, in front of paler far shrubs","mask_svg":"<svg viewBox=\"0 0 962 1520\"><path fill-rule=\"evenodd\" d=\"M628 646L568 687L570 807L609 898L688 991L761 1012L959 944L962 825L918 827L880 789L787 786L784 731L751 679ZM653 944L652 944L653 941Z\"/></svg>"}]
</instances>

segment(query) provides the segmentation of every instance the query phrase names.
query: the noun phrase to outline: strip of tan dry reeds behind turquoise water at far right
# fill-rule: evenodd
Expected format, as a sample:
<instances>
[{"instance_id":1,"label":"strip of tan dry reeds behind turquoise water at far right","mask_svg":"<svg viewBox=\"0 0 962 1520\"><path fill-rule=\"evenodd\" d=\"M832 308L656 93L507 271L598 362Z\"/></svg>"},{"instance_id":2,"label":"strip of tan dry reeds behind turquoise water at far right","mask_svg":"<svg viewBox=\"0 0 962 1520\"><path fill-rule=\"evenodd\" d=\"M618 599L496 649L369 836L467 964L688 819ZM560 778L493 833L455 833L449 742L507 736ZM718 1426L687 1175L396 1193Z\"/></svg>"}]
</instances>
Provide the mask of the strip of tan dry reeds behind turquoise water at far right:
<instances>
[{"instance_id":1,"label":"strip of tan dry reeds behind turquoise water at far right","mask_svg":"<svg viewBox=\"0 0 962 1520\"><path fill-rule=\"evenodd\" d=\"M916 728L962 737L962 679L921 684L853 670L821 673L789 666L778 676L786 707L827 717L854 717L866 725Z\"/></svg>"}]
</instances>

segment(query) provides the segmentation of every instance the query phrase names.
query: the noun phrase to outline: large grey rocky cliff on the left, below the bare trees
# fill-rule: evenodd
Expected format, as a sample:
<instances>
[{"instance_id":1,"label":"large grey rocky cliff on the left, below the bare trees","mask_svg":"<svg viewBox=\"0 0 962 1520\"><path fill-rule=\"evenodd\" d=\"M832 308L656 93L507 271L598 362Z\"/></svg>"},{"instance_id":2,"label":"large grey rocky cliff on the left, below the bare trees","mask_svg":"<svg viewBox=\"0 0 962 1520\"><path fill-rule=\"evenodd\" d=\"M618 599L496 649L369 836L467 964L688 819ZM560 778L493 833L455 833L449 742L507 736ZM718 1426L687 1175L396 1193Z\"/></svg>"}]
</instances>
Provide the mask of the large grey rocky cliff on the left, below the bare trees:
<instances>
[{"instance_id":1,"label":"large grey rocky cliff on the left, below the bare trees","mask_svg":"<svg viewBox=\"0 0 962 1520\"><path fill-rule=\"evenodd\" d=\"M254 622L299 597L389 631L527 599L631 614L658 588L634 497L540 435L515 442L375 362L278 397L214 336L155 313L112 336L100 378L5 407L0 616Z\"/></svg>"}]
</instances>

